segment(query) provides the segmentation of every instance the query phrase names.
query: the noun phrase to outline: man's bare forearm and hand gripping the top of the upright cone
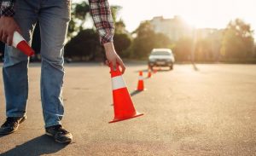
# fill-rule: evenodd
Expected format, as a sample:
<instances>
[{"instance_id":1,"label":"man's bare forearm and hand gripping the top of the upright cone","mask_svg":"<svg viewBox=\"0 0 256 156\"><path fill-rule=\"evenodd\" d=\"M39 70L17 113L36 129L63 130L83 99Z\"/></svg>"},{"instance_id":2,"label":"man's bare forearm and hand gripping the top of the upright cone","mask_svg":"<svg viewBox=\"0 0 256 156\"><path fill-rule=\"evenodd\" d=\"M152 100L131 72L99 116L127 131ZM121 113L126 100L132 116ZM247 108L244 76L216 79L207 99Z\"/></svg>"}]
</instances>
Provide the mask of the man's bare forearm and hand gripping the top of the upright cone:
<instances>
[{"instance_id":1,"label":"man's bare forearm and hand gripping the top of the upright cone","mask_svg":"<svg viewBox=\"0 0 256 156\"><path fill-rule=\"evenodd\" d=\"M104 43L104 48L106 51L106 56L108 61L106 61L107 65L109 66L110 63L113 65L113 70L116 71L116 64L118 63L122 68L122 73L125 72L125 64L119 55L115 52L113 47L113 43Z\"/></svg>"}]
</instances>

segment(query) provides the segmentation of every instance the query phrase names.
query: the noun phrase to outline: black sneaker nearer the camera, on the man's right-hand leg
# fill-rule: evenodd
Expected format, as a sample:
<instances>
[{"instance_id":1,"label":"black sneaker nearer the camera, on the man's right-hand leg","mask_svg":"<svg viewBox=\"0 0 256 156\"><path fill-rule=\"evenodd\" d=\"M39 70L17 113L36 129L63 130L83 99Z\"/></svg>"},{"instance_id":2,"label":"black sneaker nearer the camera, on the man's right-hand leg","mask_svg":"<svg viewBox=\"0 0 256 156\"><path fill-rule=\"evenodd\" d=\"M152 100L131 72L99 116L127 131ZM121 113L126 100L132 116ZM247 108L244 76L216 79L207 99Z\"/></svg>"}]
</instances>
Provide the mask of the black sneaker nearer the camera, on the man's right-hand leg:
<instances>
[{"instance_id":1,"label":"black sneaker nearer the camera, on the man's right-hand leg","mask_svg":"<svg viewBox=\"0 0 256 156\"><path fill-rule=\"evenodd\" d=\"M73 140L72 134L64 130L61 124L47 127L45 131L46 135L53 136L55 142L70 143Z\"/></svg>"}]
</instances>

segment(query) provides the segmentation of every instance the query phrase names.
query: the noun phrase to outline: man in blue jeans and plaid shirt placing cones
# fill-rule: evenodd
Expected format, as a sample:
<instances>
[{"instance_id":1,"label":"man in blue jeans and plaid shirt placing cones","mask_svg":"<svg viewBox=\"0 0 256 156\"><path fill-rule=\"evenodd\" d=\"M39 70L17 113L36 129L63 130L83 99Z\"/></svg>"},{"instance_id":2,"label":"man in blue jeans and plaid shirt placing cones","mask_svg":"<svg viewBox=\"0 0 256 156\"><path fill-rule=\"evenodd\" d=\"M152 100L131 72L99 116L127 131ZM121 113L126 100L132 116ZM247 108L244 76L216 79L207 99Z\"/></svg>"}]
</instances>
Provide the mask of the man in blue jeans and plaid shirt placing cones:
<instances>
[{"instance_id":1,"label":"man in blue jeans and plaid shirt placing cones","mask_svg":"<svg viewBox=\"0 0 256 156\"><path fill-rule=\"evenodd\" d=\"M3 83L7 119L0 134L7 135L18 129L26 119L28 95L28 58L11 47L15 31L32 41L37 21L41 31L41 101L46 134L56 142L72 142L73 136L61 126L64 113L62 83L64 76L63 48L70 20L70 0L0 0L0 40L7 43L3 64ZM116 63L125 72L125 65L113 47L113 19L108 0L90 0L90 13L104 45L108 64Z\"/></svg>"}]
</instances>

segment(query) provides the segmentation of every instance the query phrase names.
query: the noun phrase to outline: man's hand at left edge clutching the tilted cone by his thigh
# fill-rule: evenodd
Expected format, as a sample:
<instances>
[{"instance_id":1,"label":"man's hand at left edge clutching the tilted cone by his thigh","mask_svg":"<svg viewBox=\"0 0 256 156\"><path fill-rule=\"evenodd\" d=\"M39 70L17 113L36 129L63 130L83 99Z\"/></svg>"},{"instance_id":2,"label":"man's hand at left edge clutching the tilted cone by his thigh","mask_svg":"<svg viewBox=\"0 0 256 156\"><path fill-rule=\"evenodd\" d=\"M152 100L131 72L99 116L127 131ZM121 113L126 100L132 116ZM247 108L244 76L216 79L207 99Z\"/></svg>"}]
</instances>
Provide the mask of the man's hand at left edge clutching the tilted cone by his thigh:
<instances>
[{"instance_id":1,"label":"man's hand at left edge clutching the tilted cone by his thigh","mask_svg":"<svg viewBox=\"0 0 256 156\"><path fill-rule=\"evenodd\" d=\"M20 32L20 28L13 17L0 17L0 41L12 45L15 31Z\"/></svg>"}]
</instances>

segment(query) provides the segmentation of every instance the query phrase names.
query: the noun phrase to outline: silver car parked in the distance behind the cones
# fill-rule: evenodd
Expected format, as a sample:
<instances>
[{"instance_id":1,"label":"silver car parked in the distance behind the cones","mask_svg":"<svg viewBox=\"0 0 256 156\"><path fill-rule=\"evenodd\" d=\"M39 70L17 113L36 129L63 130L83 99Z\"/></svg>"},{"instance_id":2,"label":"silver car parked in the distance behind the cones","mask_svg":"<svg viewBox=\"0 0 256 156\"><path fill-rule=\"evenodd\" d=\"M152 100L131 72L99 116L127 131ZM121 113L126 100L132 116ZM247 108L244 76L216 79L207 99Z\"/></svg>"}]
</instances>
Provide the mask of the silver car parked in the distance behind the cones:
<instances>
[{"instance_id":1,"label":"silver car parked in the distance behind the cones","mask_svg":"<svg viewBox=\"0 0 256 156\"><path fill-rule=\"evenodd\" d=\"M174 61L171 49L153 49L148 56L148 66L151 69L153 66L170 66L170 70L172 70Z\"/></svg>"}]
</instances>

